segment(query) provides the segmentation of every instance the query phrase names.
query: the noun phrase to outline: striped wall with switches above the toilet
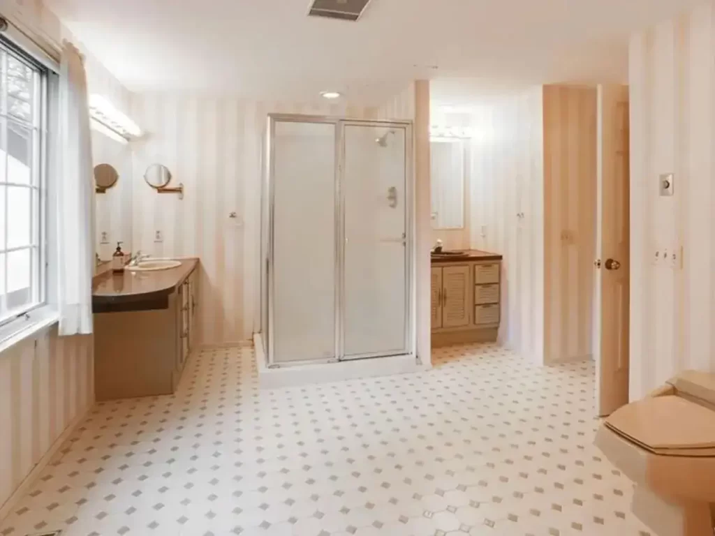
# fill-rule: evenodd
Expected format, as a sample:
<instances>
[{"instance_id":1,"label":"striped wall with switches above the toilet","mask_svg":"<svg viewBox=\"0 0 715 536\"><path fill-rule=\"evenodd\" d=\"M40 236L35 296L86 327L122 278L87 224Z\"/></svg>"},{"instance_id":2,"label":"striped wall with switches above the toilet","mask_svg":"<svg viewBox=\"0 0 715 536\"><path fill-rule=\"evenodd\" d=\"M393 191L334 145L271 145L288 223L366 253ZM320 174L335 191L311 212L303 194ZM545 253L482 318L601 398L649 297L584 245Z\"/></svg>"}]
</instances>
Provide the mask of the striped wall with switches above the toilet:
<instances>
[{"instance_id":1,"label":"striped wall with switches above the toilet","mask_svg":"<svg viewBox=\"0 0 715 536\"><path fill-rule=\"evenodd\" d=\"M631 36L631 399L715 372L714 50L712 2ZM654 262L681 246L682 269Z\"/></svg>"}]
</instances>

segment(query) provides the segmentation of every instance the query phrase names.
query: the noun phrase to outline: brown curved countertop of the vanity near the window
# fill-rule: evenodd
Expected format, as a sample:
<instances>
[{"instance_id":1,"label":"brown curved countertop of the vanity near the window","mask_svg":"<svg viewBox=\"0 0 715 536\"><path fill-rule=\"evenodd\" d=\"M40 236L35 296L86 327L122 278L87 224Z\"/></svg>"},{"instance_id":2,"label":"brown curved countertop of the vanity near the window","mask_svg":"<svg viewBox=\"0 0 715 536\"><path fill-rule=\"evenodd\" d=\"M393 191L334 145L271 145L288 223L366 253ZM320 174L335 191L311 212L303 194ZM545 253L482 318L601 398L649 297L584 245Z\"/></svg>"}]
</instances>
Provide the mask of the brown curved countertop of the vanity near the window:
<instances>
[{"instance_id":1,"label":"brown curved countertop of the vanity near the window","mask_svg":"<svg viewBox=\"0 0 715 536\"><path fill-rule=\"evenodd\" d=\"M122 274L110 270L95 276L92 279L92 309L109 312L107 306L111 306L112 310L142 310L142 302L167 302L169 294L175 292L199 264L199 259L177 260L181 266L167 270L131 272L125 269ZM127 307L117 309L121 304Z\"/></svg>"}]
</instances>

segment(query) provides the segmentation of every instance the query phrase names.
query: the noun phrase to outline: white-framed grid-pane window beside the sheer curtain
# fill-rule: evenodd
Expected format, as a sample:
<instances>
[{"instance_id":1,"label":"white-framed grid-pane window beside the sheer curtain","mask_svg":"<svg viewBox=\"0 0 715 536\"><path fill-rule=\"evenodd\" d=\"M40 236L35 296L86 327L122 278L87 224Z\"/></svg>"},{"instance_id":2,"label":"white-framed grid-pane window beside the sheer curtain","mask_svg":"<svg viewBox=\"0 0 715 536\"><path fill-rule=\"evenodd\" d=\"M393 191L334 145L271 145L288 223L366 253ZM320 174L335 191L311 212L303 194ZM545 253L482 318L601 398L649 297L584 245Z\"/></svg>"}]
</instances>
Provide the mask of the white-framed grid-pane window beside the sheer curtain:
<instances>
[{"instance_id":1,"label":"white-framed grid-pane window beside the sheer curtain","mask_svg":"<svg viewBox=\"0 0 715 536\"><path fill-rule=\"evenodd\" d=\"M0 325L45 301L46 78L0 40Z\"/></svg>"}]
</instances>

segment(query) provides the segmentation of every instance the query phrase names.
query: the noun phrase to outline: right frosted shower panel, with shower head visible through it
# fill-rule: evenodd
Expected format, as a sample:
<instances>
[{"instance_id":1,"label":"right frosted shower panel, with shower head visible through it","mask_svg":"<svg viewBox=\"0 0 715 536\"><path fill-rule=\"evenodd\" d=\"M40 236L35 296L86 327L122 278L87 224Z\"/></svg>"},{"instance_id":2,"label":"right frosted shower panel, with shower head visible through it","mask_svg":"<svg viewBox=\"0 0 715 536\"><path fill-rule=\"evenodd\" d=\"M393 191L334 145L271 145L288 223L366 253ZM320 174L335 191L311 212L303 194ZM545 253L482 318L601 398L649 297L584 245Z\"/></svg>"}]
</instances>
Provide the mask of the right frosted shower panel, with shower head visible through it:
<instances>
[{"instance_id":1,"label":"right frosted shower panel, with shower head visible through it","mask_svg":"<svg viewBox=\"0 0 715 536\"><path fill-rule=\"evenodd\" d=\"M404 126L345 124L343 359L407 353Z\"/></svg>"}]
</instances>

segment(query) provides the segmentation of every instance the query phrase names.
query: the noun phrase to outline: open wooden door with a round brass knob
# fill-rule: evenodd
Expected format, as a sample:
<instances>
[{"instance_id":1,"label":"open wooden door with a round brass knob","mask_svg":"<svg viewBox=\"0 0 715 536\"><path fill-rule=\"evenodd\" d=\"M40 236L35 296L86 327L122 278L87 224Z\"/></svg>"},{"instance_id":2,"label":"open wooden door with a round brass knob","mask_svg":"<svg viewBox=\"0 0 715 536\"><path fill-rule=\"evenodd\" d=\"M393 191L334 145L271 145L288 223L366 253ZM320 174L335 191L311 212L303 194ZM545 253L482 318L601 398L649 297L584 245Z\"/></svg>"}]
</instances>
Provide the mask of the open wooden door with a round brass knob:
<instances>
[{"instance_id":1,"label":"open wooden door with a round brass knob","mask_svg":"<svg viewBox=\"0 0 715 536\"><path fill-rule=\"evenodd\" d=\"M594 357L601 416L628 404L628 155L628 87L599 86Z\"/></svg>"}]
</instances>

